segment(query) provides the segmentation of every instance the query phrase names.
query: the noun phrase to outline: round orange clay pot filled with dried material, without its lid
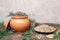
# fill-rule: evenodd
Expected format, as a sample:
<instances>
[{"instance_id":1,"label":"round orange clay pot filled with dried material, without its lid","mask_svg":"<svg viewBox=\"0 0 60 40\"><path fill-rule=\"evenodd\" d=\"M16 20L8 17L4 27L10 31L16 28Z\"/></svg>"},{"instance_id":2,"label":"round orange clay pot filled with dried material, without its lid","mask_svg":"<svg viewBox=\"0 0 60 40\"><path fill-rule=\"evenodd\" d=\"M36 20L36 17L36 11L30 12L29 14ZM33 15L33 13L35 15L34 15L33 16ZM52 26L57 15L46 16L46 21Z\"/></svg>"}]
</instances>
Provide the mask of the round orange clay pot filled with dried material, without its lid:
<instances>
[{"instance_id":1,"label":"round orange clay pot filled with dried material, without its lid","mask_svg":"<svg viewBox=\"0 0 60 40\"><path fill-rule=\"evenodd\" d=\"M27 16L12 16L10 26L16 32L24 32L29 28L30 22Z\"/></svg>"}]
</instances>

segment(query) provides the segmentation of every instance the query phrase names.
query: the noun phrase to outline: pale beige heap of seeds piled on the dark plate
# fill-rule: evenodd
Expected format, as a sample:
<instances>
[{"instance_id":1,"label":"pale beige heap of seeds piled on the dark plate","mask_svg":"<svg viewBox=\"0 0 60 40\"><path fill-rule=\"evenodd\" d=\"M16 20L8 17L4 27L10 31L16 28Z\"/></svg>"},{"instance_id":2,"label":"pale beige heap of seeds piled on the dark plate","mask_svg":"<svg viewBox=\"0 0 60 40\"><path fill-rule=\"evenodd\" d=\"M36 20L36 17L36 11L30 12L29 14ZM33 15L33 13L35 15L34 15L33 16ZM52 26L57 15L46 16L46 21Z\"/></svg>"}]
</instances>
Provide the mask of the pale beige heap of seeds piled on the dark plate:
<instances>
[{"instance_id":1,"label":"pale beige heap of seeds piled on the dark plate","mask_svg":"<svg viewBox=\"0 0 60 40\"><path fill-rule=\"evenodd\" d=\"M53 26L49 26L46 24L39 25L39 26L35 27L34 29L38 32L53 32L56 30Z\"/></svg>"}]
</instances>

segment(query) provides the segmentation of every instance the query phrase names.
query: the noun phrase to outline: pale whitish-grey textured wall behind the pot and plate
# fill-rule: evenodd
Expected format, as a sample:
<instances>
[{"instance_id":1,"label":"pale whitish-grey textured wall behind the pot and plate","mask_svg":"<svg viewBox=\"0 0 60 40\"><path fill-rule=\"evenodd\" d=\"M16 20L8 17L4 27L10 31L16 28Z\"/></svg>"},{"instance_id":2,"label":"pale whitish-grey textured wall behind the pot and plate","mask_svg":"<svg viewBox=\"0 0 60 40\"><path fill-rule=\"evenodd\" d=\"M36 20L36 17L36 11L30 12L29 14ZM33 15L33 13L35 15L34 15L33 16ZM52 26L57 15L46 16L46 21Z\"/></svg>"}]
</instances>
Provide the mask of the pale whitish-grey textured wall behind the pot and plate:
<instances>
[{"instance_id":1,"label":"pale whitish-grey textured wall behind the pot and plate","mask_svg":"<svg viewBox=\"0 0 60 40\"><path fill-rule=\"evenodd\" d=\"M60 23L60 0L0 0L0 22L10 11L34 13L40 23Z\"/></svg>"}]
</instances>

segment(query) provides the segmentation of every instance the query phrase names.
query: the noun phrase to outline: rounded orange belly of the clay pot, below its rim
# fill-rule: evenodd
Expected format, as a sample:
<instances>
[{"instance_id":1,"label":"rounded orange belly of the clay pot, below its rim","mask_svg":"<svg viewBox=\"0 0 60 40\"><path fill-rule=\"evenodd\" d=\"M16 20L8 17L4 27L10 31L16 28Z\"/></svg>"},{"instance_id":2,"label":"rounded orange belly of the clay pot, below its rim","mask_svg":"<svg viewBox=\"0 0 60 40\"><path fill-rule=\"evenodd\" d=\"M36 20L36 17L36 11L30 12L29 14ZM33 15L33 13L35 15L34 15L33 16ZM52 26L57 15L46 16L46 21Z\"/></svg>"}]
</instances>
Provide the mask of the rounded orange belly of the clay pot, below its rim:
<instances>
[{"instance_id":1,"label":"rounded orange belly of the clay pot, below its rim","mask_svg":"<svg viewBox=\"0 0 60 40\"><path fill-rule=\"evenodd\" d=\"M25 19L21 19L21 20L14 20L12 19L10 21L10 26L12 29L14 29L15 31L19 31L19 32L23 32L26 29L29 28L29 20Z\"/></svg>"}]
</instances>

